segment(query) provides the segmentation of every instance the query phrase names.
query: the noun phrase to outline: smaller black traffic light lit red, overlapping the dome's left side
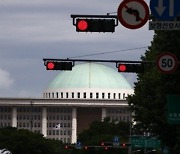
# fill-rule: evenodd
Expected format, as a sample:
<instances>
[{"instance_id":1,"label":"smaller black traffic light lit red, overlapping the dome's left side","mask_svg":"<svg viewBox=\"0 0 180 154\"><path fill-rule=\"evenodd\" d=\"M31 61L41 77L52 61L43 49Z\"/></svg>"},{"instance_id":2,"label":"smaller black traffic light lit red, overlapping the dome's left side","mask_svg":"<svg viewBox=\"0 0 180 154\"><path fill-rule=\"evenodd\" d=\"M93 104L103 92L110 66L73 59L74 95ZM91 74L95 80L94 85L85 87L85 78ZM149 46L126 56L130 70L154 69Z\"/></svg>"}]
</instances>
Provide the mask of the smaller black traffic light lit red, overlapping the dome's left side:
<instances>
[{"instance_id":1,"label":"smaller black traffic light lit red, overlapping the dome's left side","mask_svg":"<svg viewBox=\"0 0 180 154\"><path fill-rule=\"evenodd\" d=\"M46 61L46 70L72 70L72 62Z\"/></svg>"}]
</instances>

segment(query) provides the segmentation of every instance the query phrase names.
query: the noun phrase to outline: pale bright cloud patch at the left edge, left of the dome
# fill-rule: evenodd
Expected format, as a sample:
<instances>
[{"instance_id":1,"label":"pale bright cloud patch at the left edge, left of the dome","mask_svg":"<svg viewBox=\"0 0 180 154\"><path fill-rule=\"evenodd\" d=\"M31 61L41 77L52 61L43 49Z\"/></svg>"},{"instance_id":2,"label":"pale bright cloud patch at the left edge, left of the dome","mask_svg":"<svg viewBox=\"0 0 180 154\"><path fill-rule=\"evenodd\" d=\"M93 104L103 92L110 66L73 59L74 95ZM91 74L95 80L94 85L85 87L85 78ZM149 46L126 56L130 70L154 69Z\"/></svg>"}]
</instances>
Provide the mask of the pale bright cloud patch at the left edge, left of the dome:
<instances>
[{"instance_id":1,"label":"pale bright cloud patch at the left edge, left of the dome","mask_svg":"<svg viewBox=\"0 0 180 154\"><path fill-rule=\"evenodd\" d=\"M9 72L0 68L0 89L8 89L14 83Z\"/></svg>"}]
</instances>

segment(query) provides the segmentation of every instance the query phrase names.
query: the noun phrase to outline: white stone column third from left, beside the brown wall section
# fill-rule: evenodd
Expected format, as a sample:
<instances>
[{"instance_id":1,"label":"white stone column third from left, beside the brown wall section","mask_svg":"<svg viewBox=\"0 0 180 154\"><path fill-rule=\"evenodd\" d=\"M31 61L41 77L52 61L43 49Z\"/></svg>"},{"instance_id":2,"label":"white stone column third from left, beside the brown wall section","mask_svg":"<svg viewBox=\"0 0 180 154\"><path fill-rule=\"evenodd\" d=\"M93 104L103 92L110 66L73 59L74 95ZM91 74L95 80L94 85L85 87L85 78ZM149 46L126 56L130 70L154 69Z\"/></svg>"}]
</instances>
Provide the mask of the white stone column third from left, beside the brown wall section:
<instances>
[{"instance_id":1,"label":"white stone column third from left, beside the brown wall section","mask_svg":"<svg viewBox=\"0 0 180 154\"><path fill-rule=\"evenodd\" d=\"M72 136L71 143L77 142L77 109L76 107L72 108Z\"/></svg>"}]
</instances>

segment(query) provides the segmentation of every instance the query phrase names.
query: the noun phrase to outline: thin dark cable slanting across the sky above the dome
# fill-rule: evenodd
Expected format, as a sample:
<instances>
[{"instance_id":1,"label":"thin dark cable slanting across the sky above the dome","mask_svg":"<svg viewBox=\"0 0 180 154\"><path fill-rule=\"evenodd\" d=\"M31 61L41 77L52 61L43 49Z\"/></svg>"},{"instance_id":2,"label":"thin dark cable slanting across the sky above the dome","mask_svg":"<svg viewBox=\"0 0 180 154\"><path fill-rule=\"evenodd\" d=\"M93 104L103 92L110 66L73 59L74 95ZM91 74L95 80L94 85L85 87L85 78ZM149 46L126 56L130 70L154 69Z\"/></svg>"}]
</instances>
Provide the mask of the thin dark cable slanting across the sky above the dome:
<instances>
[{"instance_id":1,"label":"thin dark cable slanting across the sky above the dome","mask_svg":"<svg viewBox=\"0 0 180 154\"><path fill-rule=\"evenodd\" d=\"M110 53L125 52L125 51L131 51L131 50L137 50L137 49L145 49L145 48L147 48L147 46L146 47L138 47L138 48L130 48L130 49L122 49L122 50L116 50L116 51L100 52L100 53L87 54L87 55L81 55L81 56L75 56L75 57L69 57L69 58L79 58L79 57L105 55L105 54L110 54Z\"/></svg>"}]
</instances>

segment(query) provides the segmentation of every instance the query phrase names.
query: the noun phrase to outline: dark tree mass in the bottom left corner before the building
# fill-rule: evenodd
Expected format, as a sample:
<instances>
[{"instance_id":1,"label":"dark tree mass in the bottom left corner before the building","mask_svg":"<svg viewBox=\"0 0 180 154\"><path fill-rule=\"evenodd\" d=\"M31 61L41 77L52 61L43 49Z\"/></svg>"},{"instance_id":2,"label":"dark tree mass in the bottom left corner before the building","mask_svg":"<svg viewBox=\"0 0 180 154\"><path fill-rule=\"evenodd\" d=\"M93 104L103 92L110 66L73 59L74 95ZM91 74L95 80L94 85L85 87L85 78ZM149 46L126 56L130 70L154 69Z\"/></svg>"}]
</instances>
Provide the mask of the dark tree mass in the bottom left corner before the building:
<instances>
[{"instance_id":1,"label":"dark tree mass in the bottom left corner before the building","mask_svg":"<svg viewBox=\"0 0 180 154\"><path fill-rule=\"evenodd\" d=\"M42 134L12 127L0 129L0 149L3 148L7 148L12 154L66 153L60 141L46 139Z\"/></svg>"}]
</instances>

